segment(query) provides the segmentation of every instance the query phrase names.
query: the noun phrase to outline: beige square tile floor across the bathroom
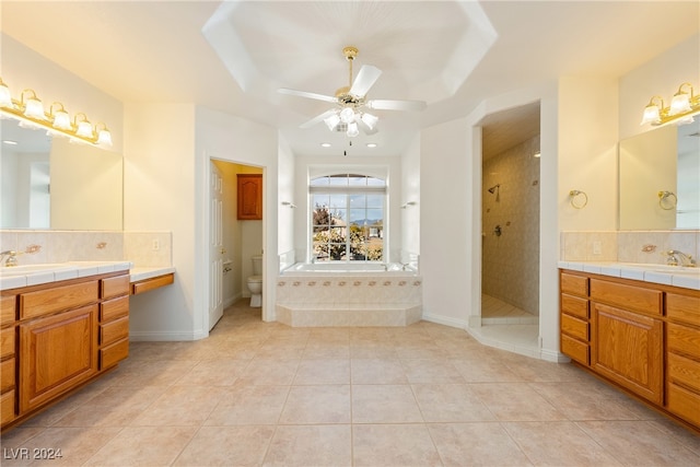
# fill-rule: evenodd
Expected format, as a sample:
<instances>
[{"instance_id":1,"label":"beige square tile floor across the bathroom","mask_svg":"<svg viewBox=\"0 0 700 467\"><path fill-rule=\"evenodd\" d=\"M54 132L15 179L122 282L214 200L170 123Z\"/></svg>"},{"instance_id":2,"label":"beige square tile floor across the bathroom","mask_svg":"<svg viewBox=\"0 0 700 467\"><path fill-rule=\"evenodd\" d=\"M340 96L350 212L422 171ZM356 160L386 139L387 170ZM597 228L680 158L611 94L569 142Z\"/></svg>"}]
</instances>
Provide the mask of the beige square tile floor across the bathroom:
<instances>
[{"instance_id":1,"label":"beige square tile floor across the bathroom","mask_svg":"<svg viewBox=\"0 0 700 467\"><path fill-rule=\"evenodd\" d=\"M60 448L56 460L13 459ZM210 338L132 343L2 435L2 466L698 466L700 436L569 364L421 322L290 328L245 302Z\"/></svg>"}]
</instances>

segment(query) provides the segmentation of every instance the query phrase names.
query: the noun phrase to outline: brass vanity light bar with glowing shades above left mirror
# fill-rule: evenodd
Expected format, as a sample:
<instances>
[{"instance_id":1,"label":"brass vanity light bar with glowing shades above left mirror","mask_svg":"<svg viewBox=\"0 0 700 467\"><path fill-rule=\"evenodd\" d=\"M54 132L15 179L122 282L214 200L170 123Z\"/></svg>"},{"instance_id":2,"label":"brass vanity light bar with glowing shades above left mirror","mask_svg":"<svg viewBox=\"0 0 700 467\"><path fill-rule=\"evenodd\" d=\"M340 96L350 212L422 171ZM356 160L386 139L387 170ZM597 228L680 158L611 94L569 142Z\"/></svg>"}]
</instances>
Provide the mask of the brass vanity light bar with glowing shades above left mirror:
<instances>
[{"instance_id":1,"label":"brass vanity light bar with glowing shades above left mirror","mask_svg":"<svg viewBox=\"0 0 700 467\"><path fill-rule=\"evenodd\" d=\"M112 145L112 133L105 124L100 122L93 127L82 113L75 114L71 121L60 102L51 104L47 113L34 90L22 91L19 101L12 98L10 89L2 78L0 78L0 113L18 118L26 126L46 128L49 135L66 136L95 145Z\"/></svg>"}]
</instances>

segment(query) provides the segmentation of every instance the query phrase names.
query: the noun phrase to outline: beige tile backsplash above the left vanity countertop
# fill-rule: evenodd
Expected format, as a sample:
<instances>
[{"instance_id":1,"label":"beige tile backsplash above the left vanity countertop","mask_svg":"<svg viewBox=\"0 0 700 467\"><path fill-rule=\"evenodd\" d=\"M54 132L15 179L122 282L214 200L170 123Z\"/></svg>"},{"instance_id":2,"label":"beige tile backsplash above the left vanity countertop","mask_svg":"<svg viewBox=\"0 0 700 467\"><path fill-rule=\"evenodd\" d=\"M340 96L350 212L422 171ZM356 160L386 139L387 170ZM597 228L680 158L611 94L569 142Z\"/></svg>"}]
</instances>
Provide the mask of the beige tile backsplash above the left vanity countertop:
<instances>
[{"instance_id":1,"label":"beige tile backsplash above the left vanity countertop","mask_svg":"<svg viewBox=\"0 0 700 467\"><path fill-rule=\"evenodd\" d=\"M135 267L172 264L170 232L0 230L0 250L14 250L20 265L129 260Z\"/></svg>"}]
</instances>

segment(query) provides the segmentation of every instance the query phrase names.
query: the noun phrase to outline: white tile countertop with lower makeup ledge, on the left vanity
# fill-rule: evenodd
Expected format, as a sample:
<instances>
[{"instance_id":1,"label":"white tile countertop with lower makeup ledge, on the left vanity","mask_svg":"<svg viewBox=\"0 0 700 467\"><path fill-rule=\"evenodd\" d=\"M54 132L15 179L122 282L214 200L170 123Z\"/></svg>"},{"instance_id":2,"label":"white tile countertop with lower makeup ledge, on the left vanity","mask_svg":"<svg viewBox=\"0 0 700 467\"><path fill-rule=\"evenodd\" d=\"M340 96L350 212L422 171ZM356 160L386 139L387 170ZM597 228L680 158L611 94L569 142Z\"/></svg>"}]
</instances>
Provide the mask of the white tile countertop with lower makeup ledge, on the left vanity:
<instances>
[{"instance_id":1,"label":"white tile countertop with lower makeup ledge, on the left vanity","mask_svg":"<svg viewBox=\"0 0 700 467\"><path fill-rule=\"evenodd\" d=\"M175 272L175 268L133 268L131 261L67 261L0 268L0 290L38 285L107 272L128 271L131 282Z\"/></svg>"}]
</instances>

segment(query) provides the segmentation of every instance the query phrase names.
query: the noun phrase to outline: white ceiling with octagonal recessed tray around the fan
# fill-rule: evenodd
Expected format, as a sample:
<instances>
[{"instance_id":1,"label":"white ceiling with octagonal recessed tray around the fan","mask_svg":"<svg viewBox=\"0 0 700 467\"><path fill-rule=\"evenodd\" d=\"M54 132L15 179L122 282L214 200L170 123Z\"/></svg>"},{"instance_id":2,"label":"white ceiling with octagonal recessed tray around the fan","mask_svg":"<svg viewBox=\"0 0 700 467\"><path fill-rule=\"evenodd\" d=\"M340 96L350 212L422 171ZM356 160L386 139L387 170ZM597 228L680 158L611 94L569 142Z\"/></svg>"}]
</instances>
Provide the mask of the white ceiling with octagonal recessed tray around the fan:
<instances>
[{"instance_id":1,"label":"white ceiling with octagonal recessed tray around the fan","mask_svg":"<svg viewBox=\"0 0 700 467\"><path fill-rule=\"evenodd\" d=\"M332 95L347 84L347 45L360 49L355 73L363 63L383 70L371 98L429 103L419 114L377 112L380 131L348 151L390 155L416 128L485 97L565 74L619 77L700 30L698 1L2 0L0 9L3 33L122 102L194 102L280 128L296 153L329 156L348 149L345 135L299 129L329 104L276 90ZM509 125L514 141L501 144L532 131Z\"/></svg>"}]
</instances>

